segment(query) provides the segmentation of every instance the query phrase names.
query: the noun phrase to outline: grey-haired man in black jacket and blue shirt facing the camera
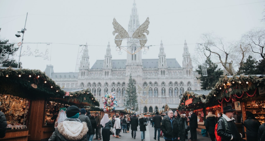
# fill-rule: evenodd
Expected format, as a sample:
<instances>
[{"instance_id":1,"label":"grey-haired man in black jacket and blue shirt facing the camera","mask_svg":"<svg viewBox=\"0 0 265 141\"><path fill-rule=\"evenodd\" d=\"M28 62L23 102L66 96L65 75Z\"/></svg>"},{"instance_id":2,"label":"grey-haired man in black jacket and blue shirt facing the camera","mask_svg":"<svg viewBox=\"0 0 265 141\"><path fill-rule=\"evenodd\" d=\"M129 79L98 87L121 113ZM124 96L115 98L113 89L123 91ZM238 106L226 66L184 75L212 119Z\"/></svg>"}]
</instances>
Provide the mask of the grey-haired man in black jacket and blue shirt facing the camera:
<instances>
[{"instance_id":1,"label":"grey-haired man in black jacket and blue shirt facing the camera","mask_svg":"<svg viewBox=\"0 0 265 141\"><path fill-rule=\"evenodd\" d=\"M164 133L165 141L176 141L180 139L176 119L173 118L173 111L167 111L167 117L163 118L161 130Z\"/></svg>"}]
</instances>

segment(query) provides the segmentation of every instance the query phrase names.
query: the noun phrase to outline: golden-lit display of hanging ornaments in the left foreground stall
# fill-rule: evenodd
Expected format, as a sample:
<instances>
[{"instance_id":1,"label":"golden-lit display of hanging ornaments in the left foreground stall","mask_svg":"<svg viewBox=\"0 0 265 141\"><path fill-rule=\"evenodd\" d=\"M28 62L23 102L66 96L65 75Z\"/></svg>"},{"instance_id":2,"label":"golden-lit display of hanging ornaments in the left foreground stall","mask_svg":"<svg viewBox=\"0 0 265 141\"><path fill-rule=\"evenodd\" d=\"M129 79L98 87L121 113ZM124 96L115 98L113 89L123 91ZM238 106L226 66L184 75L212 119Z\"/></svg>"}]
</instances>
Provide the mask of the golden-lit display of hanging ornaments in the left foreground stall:
<instances>
[{"instance_id":1,"label":"golden-lit display of hanging ornaments in the left foreground stall","mask_svg":"<svg viewBox=\"0 0 265 141\"><path fill-rule=\"evenodd\" d=\"M5 114L7 129L26 129L29 100L17 96L0 94L0 111Z\"/></svg>"}]
</instances>

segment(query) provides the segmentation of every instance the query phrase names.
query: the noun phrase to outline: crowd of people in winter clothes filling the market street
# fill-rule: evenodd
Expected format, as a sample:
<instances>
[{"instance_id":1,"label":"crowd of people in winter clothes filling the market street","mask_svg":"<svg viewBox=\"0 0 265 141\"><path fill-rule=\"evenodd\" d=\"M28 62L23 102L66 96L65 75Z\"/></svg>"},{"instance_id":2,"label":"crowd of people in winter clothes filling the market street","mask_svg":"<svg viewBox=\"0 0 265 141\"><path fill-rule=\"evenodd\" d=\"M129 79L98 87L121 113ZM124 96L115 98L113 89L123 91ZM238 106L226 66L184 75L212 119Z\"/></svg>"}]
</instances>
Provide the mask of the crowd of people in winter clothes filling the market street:
<instances>
[{"instance_id":1,"label":"crowd of people in winter clothes filling the market street","mask_svg":"<svg viewBox=\"0 0 265 141\"><path fill-rule=\"evenodd\" d=\"M0 105L1 106L1 105ZM231 106L223 107L223 114L217 116L209 112L206 116L205 127L212 141L240 141L242 134L239 133L233 118L235 109ZM85 109L79 109L72 105L66 110L67 118L58 124L52 133L49 141L109 141L112 135L115 138L121 138L121 132L129 133L131 137L136 138L138 126L141 132L141 140L145 139L146 126L149 121L154 127L154 140L160 141L185 141L188 139L188 131L191 136L188 141L197 141L198 127L197 115L193 111L189 112L188 117L185 114L179 114L177 111L169 110L161 115L156 112L155 116L145 117L140 115L108 115L101 117L99 112L91 113ZM242 122L246 127L246 139L248 141L265 141L265 124L261 125L255 119L254 114L247 111L247 119ZM188 126L189 123L189 126ZM5 115L0 111L0 138L5 137L6 133Z\"/></svg>"}]
</instances>

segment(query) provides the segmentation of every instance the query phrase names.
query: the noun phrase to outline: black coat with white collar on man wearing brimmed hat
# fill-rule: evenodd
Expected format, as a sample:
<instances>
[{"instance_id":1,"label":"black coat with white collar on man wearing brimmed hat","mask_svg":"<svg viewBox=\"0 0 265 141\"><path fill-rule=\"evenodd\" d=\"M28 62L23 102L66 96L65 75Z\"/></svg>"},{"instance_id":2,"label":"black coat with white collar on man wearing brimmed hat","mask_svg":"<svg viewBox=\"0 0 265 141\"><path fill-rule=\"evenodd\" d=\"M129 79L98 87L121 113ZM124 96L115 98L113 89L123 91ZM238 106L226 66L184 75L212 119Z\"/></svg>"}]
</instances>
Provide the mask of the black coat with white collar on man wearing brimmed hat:
<instances>
[{"instance_id":1,"label":"black coat with white collar on man wearing brimmed hat","mask_svg":"<svg viewBox=\"0 0 265 141\"><path fill-rule=\"evenodd\" d=\"M227 121L227 129L225 126L225 121ZM222 137L222 141L239 141L241 139L241 134L238 132L236 124L234 122L235 118L229 118L223 114L223 118L220 118L217 126L217 135Z\"/></svg>"}]
</instances>

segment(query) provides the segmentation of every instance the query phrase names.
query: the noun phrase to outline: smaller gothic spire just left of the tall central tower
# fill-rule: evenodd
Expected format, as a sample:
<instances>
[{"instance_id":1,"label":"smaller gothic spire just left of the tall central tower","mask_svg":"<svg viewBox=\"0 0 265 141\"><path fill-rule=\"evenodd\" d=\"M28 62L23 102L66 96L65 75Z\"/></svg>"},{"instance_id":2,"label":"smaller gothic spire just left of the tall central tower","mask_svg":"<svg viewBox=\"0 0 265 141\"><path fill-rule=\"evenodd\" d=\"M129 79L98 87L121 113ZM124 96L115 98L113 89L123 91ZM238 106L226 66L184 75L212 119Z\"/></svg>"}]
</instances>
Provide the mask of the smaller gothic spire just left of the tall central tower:
<instances>
[{"instance_id":1,"label":"smaller gothic spire just left of the tall central tower","mask_svg":"<svg viewBox=\"0 0 265 141\"><path fill-rule=\"evenodd\" d=\"M109 76L111 74L112 69L112 55L111 55L111 48L108 43L108 47L106 49L106 55L103 63L103 75Z\"/></svg>"}]
</instances>

